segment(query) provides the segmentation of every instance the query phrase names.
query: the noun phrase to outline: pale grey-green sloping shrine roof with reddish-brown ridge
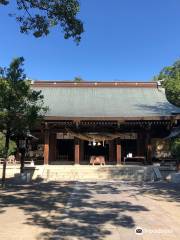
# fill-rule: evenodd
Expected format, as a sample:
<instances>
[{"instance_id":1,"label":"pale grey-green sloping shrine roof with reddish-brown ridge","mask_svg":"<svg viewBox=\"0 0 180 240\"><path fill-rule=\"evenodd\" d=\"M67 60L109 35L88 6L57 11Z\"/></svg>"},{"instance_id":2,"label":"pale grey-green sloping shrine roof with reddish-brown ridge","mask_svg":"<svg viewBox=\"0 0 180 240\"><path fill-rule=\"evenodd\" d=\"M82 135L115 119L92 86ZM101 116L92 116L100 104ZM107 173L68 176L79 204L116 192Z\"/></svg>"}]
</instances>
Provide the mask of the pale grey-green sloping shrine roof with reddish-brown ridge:
<instances>
[{"instance_id":1,"label":"pale grey-green sloping shrine roof with reddish-brown ridge","mask_svg":"<svg viewBox=\"0 0 180 240\"><path fill-rule=\"evenodd\" d=\"M83 87L72 84L32 84L44 95L45 105L49 107L48 117L153 118L180 114L180 108L170 104L164 89L155 83L83 83Z\"/></svg>"}]
</instances>

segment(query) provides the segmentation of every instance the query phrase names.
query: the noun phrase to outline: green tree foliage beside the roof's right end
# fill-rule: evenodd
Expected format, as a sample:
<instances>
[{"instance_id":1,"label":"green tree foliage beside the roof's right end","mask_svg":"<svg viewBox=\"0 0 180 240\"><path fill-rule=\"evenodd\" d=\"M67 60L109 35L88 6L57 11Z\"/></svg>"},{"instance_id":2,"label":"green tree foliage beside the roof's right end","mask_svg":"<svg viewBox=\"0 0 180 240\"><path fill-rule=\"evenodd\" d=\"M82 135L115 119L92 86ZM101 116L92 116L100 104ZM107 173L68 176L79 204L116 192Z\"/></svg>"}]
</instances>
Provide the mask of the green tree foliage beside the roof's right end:
<instances>
[{"instance_id":1,"label":"green tree foliage beside the roof's right end","mask_svg":"<svg viewBox=\"0 0 180 240\"><path fill-rule=\"evenodd\" d=\"M164 80L167 99L174 105L180 107L180 60L172 66L163 68L159 75L154 77L155 81Z\"/></svg>"}]
</instances>

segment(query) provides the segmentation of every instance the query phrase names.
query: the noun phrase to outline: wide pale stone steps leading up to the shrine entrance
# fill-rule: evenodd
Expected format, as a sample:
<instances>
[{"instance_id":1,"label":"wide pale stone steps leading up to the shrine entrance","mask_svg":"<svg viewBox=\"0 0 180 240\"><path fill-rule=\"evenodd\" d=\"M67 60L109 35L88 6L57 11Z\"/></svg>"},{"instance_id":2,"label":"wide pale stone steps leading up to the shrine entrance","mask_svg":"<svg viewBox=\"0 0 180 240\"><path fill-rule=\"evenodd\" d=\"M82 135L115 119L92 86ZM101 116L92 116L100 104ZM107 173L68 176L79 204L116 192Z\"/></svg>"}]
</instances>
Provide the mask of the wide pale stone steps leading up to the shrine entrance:
<instances>
[{"instance_id":1,"label":"wide pale stone steps leading up to the shrine entrance","mask_svg":"<svg viewBox=\"0 0 180 240\"><path fill-rule=\"evenodd\" d=\"M44 166L41 177L59 181L152 181L155 179L152 166L89 166L49 165Z\"/></svg>"}]
</instances>

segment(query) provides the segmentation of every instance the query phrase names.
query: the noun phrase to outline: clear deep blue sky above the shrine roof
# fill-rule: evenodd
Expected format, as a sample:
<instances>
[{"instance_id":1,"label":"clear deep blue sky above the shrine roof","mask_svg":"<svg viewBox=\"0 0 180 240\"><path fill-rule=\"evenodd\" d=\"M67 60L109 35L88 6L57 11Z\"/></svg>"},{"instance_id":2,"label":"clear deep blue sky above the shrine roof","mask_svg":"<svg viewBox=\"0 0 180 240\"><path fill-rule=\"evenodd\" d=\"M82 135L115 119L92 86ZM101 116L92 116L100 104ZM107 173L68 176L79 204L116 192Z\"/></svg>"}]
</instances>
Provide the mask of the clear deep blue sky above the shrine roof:
<instances>
[{"instance_id":1,"label":"clear deep blue sky above the shrine roof","mask_svg":"<svg viewBox=\"0 0 180 240\"><path fill-rule=\"evenodd\" d=\"M180 56L179 0L81 0L79 46L59 30L35 39L0 8L0 66L24 56L36 80L149 81Z\"/></svg>"}]
</instances>

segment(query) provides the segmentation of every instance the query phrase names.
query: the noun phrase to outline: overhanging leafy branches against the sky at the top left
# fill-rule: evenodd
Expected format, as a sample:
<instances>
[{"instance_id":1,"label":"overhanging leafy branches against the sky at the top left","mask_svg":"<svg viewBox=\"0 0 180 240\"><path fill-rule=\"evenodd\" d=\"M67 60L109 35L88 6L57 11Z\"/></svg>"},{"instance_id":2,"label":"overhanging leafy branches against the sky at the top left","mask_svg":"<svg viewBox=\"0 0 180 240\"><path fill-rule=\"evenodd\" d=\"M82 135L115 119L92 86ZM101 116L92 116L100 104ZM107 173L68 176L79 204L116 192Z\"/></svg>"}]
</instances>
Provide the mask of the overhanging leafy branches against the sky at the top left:
<instances>
[{"instance_id":1,"label":"overhanging leafy branches against the sky at the top left","mask_svg":"<svg viewBox=\"0 0 180 240\"><path fill-rule=\"evenodd\" d=\"M22 33L32 32L35 37L42 37L48 35L52 27L60 27L65 39L72 37L80 42L84 28L77 18L78 0L0 0L1 6L10 3L16 11L10 16L15 16Z\"/></svg>"}]
</instances>

